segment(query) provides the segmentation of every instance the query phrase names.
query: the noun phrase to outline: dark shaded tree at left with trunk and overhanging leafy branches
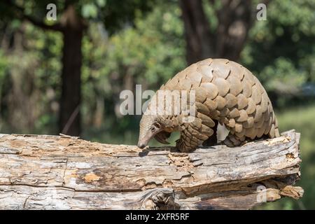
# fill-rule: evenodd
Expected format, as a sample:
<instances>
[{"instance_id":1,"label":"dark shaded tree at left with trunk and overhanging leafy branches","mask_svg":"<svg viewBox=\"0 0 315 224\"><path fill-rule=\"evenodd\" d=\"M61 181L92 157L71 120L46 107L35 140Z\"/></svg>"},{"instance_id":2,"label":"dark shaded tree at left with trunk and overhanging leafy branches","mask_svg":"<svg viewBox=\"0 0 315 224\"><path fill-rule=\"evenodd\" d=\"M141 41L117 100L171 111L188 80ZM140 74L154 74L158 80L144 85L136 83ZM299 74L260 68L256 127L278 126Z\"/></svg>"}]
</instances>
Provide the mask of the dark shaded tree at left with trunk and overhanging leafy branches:
<instances>
[{"instance_id":1,"label":"dark shaded tree at left with trunk and overhanging leafy branches","mask_svg":"<svg viewBox=\"0 0 315 224\"><path fill-rule=\"evenodd\" d=\"M62 90L59 98L59 132L80 134L82 39L89 20L105 21L112 33L132 18L141 9L147 9L146 1L56 1L59 18L57 22L45 20L45 10L50 1L1 2L1 11L7 20L27 20L40 29L62 33ZM106 5L107 10L98 10ZM122 7L123 6L123 7ZM6 12L6 8L10 10ZM98 8L97 8L98 7ZM104 13L103 13L104 12ZM110 21L110 22L108 22Z\"/></svg>"}]
</instances>

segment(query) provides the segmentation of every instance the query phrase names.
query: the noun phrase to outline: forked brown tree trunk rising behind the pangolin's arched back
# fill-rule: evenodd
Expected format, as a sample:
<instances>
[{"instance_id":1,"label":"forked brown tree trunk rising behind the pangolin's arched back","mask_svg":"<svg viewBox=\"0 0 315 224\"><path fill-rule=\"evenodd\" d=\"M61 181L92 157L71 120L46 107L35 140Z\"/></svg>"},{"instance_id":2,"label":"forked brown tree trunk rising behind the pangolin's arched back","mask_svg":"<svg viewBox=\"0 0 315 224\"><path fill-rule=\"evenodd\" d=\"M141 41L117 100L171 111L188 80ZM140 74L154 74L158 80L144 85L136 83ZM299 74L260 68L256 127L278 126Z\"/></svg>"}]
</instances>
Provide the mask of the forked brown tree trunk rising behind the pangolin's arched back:
<instances>
[{"instance_id":1,"label":"forked brown tree trunk rising behind the pangolin's arched back","mask_svg":"<svg viewBox=\"0 0 315 224\"><path fill-rule=\"evenodd\" d=\"M214 4L214 0L211 1ZM182 18L186 31L188 64L208 57L223 57L237 61L253 23L255 6L249 0L222 0L216 10L218 27L210 31L202 0L181 0Z\"/></svg>"}]
</instances>

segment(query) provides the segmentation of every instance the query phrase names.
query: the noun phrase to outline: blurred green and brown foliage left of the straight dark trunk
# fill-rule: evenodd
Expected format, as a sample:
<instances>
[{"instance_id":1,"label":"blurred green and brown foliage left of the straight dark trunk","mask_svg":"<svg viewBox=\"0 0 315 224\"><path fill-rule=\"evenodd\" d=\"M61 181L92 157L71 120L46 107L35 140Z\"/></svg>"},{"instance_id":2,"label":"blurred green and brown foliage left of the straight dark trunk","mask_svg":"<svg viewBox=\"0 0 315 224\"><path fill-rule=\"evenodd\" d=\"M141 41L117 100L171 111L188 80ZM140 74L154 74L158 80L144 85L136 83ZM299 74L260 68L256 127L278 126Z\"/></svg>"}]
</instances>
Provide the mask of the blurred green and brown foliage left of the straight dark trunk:
<instances>
[{"instance_id":1,"label":"blurred green and brown foliage left of the straight dark trunk","mask_svg":"<svg viewBox=\"0 0 315 224\"><path fill-rule=\"evenodd\" d=\"M10 35L0 50L1 132L56 133L62 36L17 20L5 29Z\"/></svg>"}]
</instances>

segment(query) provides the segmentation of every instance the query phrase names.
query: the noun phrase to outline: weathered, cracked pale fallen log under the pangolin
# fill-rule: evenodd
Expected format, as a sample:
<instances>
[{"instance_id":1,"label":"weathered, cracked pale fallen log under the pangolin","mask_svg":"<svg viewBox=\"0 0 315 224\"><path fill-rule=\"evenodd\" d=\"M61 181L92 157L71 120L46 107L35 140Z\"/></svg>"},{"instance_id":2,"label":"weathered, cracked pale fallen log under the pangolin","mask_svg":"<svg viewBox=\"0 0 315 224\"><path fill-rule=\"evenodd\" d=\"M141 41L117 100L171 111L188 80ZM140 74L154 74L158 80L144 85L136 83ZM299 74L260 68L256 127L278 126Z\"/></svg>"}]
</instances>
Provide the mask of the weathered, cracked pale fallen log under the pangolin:
<instances>
[{"instance_id":1,"label":"weathered, cracked pale fallen log under the pangolin","mask_svg":"<svg viewBox=\"0 0 315 224\"><path fill-rule=\"evenodd\" d=\"M249 209L302 197L300 134L179 153L0 134L0 209Z\"/></svg>"}]
</instances>

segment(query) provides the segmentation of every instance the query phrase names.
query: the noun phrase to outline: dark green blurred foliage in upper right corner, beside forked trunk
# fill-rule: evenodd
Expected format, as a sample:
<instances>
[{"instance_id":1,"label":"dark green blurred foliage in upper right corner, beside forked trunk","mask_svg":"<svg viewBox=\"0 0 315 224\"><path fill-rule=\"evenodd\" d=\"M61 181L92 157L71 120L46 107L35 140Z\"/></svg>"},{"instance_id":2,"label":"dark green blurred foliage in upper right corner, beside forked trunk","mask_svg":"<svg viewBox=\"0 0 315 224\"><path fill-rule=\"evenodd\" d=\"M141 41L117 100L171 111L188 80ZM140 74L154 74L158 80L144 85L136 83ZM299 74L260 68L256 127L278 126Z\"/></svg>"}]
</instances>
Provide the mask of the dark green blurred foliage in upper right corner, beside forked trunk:
<instances>
[{"instance_id":1,"label":"dark green blurred foliage in upper right corner, beside forked trunk","mask_svg":"<svg viewBox=\"0 0 315 224\"><path fill-rule=\"evenodd\" d=\"M267 20L256 21L241 62L277 94L299 92L315 80L315 1L270 1Z\"/></svg>"}]
</instances>

